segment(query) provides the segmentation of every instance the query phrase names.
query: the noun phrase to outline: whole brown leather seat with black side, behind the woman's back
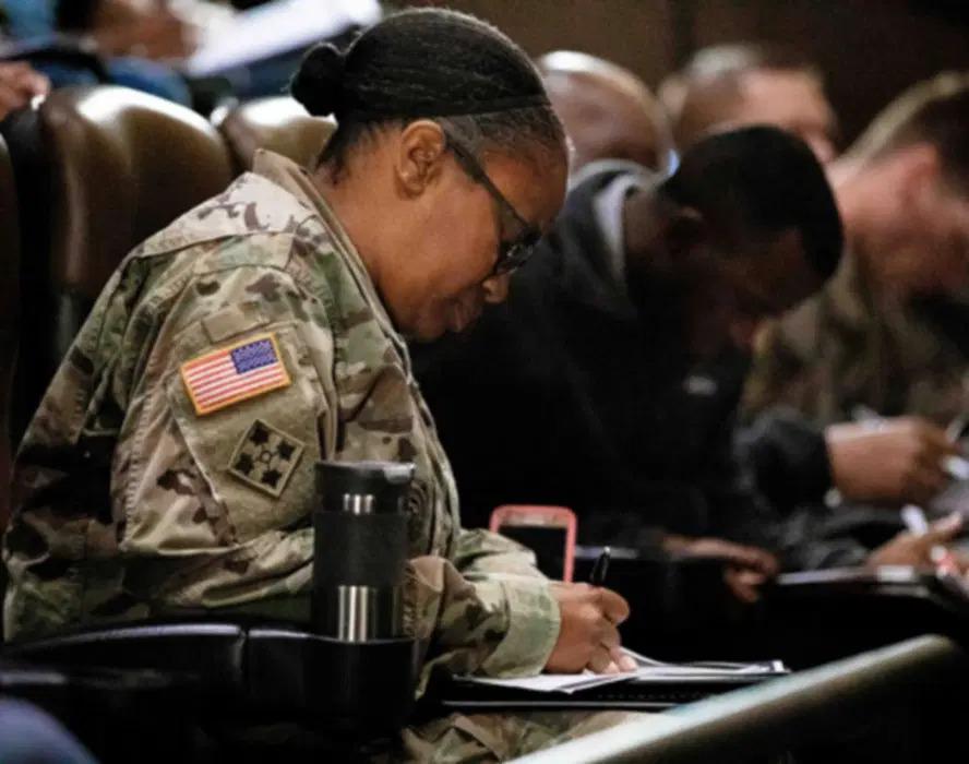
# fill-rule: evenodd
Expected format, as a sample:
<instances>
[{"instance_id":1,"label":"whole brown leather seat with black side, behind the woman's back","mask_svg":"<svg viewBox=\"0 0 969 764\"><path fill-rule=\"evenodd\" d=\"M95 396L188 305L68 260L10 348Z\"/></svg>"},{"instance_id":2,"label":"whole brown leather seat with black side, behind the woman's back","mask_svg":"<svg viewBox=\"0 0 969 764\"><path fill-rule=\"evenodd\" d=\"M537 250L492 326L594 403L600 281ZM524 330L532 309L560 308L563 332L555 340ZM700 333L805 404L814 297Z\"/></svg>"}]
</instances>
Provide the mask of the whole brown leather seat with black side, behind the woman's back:
<instances>
[{"instance_id":1,"label":"whole brown leather seat with black side, behind the woman's back","mask_svg":"<svg viewBox=\"0 0 969 764\"><path fill-rule=\"evenodd\" d=\"M123 87L56 91L3 132L21 202L20 434L111 272L143 239L230 181L218 132L193 111Z\"/></svg>"}]
</instances>

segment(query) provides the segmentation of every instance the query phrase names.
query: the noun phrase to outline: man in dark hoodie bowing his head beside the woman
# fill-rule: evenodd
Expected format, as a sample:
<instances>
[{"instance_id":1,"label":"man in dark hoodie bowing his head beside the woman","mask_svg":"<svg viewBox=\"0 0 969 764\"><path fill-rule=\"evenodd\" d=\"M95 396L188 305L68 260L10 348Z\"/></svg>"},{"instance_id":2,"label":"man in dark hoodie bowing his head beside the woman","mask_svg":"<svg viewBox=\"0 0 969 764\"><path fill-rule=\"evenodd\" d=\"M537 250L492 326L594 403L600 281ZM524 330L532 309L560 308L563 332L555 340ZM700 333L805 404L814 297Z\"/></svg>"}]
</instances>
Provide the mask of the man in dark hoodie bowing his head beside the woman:
<instances>
[{"instance_id":1,"label":"man in dark hoodie bowing his head beside the woman","mask_svg":"<svg viewBox=\"0 0 969 764\"><path fill-rule=\"evenodd\" d=\"M725 371L723 359L817 290L841 243L821 166L776 129L708 136L669 178L590 175L507 302L417 355L468 520L483 524L502 503L564 504L584 542L725 559L744 600L777 558L928 560L910 535L870 553L789 525L734 458L745 369ZM809 457L825 462L818 443Z\"/></svg>"}]
</instances>

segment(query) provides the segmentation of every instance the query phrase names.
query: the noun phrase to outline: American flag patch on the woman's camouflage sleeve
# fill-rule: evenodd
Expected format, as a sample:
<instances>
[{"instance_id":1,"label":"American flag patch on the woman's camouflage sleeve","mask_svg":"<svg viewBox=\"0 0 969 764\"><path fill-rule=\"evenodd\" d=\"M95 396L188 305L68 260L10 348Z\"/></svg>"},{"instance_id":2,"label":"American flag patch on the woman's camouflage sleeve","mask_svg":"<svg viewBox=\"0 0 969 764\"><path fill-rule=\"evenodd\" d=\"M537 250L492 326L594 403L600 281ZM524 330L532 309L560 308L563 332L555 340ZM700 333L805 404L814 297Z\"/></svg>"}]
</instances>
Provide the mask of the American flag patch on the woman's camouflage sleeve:
<instances>
[{"instance_id":1,"label":"American flag patch on the woman's camouflage sleeve","mask_svg":"<svg viewBox=\"0 0 969 764\"><path fill-rule=\"evenodd\" d=\"M180 370L200 417L290 384L273 334L206 353Z\"/></svg>"}]
</instances>

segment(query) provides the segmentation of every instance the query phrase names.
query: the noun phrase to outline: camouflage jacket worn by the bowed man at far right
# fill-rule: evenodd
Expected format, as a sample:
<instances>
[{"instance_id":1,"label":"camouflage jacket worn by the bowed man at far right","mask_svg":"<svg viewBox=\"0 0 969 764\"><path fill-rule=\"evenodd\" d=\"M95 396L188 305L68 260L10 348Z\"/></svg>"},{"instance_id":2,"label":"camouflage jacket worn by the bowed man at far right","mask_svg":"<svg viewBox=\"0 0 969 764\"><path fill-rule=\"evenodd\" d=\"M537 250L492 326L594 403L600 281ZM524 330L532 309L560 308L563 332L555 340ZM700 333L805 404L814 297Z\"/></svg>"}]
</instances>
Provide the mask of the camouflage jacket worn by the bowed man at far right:
<instances>
[{"instance_id":1,"label":"camouflage jacket worn by the bowed man at far right","mask_svg":"<svg viewBox=\"0 0 969 764\"><path fill-rule=\"evenodd\" d=\"M880 299L850 254L762 339L745 393L751 411L788 404L832 423L861 405L944 426L965 407L966 358L910 307Z\"/></svg>"}]
</instances>

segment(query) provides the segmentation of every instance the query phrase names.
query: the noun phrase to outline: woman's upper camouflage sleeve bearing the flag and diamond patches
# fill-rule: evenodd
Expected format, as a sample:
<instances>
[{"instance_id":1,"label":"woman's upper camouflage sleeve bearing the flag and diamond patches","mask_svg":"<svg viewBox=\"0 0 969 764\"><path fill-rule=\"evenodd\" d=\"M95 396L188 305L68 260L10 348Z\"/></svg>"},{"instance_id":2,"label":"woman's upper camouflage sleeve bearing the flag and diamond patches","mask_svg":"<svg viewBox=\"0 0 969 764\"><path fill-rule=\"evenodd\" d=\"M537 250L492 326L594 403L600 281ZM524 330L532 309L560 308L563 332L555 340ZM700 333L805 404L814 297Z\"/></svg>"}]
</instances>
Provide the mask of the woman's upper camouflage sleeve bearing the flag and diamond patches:
<instances>
[{"instance_id":1,"label":"woman's upper camouflage sleeve bearing the flag and diamond patches","mask_svg":"<svg viewBox=\"0 0 969 764\"><path fill-rule=\"evenodd\" d=\"M313 465L335 437L331 331L278 268L200 275L189 290L117 449L127 587L157 608L301 594Z\"/></svg>"}]
</instances>

